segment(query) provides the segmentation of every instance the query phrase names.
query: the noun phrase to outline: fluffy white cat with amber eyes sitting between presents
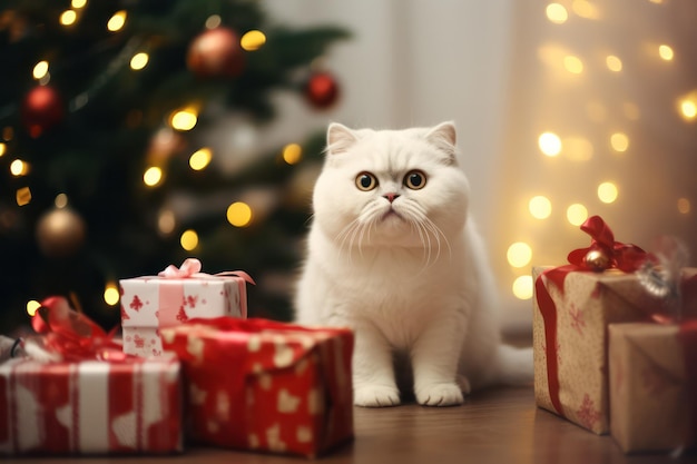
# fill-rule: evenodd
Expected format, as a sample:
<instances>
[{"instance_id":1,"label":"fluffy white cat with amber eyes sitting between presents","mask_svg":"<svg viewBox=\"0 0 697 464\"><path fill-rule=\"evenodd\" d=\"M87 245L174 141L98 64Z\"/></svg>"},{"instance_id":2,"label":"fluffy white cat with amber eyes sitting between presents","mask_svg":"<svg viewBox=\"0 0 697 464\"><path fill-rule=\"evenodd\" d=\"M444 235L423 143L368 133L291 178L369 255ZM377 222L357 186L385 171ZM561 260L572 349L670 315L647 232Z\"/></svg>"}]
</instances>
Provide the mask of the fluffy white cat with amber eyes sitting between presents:
<instances>
[{"instance_id":1,"label":"fluffy white cat with amber eyes sitting between presents","mask_svg":"<svg viewBox=\"0 0 697 464\"><path fill-rule=\"evenodd\" d=\"M422 405L457 405L472 388L532 381L532 352L501 344L470 195L452 122L328 127L295 316L355 330L356 405L400 404L399 354Z\"/></svg>"}]
</instances>

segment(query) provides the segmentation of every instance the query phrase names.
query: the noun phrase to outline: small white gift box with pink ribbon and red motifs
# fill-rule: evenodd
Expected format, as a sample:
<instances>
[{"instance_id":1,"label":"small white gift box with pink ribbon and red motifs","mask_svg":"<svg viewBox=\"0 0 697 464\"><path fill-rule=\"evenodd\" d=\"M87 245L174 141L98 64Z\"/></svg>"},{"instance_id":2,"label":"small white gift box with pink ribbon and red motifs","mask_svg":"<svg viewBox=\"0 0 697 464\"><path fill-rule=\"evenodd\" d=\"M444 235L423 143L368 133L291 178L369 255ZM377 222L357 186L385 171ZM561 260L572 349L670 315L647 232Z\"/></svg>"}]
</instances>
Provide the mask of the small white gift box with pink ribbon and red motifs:
<instances>
[{"instance_id":1,"label":"small white gift box with pink ribbon and red motifs","mask_svg":"<svg viewBox=\"0 0 697 464\"><path fill-rule=\"evenodd\" d=\"M188 258L158 276L119 280L125 353L159 356L160 327L190 318L247 317L246 284L254 280L242 270L209 275L200 268L198 259Z\"/></svg>"}]
</instances>

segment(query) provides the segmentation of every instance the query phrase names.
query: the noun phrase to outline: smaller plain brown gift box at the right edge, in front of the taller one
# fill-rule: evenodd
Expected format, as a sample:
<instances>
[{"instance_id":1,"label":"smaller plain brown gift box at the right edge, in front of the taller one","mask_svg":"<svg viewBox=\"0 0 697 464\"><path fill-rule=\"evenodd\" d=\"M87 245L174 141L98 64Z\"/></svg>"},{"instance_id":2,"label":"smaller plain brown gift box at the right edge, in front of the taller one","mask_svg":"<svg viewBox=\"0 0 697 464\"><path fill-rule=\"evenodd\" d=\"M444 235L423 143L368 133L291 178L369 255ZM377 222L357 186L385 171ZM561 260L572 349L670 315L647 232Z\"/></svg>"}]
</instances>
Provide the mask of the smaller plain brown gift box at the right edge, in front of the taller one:
<instances>
[{"instance_id":1,"label":"smaller plain brown gift box at the right edge, in front of the taller one","mask_svg":"<svg viewBox=\"0 0 697 464\"><path fill-rule=\"evenodd\" d=\"M610 432L625 452L697 445L697 320L609 326Z\"/></svg>"}]
</instances>

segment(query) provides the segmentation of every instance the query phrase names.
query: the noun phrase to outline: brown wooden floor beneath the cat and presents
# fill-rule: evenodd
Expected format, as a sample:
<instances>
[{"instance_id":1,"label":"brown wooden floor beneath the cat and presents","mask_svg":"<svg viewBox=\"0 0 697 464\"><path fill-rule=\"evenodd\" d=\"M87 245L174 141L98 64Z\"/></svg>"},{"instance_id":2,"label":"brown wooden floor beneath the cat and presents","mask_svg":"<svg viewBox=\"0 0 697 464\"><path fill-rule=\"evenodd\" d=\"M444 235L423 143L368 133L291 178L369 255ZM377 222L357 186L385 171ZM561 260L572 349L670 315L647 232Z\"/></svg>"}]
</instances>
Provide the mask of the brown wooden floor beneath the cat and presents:
<instances>
[{"instance_id":1,"label":"brown wooden floor beneath the cat and presents","mask_svg":"<svg viewBox=\"0 0 697 464\"><path fill-rule=\"evenodd\" d=\"M51 464L75 458L36 460ZM183 455L80 458L79 464L284 464L306 460L193 448ZM609 436L597 436L534 405L532 388L475 393L458 407L414 404L391 408L355 408L355 440L318 458L322 463L361 464L613 464L697 463L697 454L674 460L667 454L625 456ZM3 464L35 460L0 458Z\"/></svg>"}]
</instances>

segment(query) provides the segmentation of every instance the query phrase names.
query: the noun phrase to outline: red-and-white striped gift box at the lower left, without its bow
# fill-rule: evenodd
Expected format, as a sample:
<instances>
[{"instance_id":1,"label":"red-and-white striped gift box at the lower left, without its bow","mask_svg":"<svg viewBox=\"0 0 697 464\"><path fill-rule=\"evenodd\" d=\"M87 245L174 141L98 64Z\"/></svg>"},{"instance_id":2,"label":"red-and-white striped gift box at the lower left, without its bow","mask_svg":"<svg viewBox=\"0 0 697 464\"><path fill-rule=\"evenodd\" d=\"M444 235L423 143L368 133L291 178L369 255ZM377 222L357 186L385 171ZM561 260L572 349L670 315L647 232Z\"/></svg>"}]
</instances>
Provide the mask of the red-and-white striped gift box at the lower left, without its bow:
<instances>
[{"instance_id":1,"label":"red-and-white striped gift box at the lower left, without its bow","mask_svg":"<svg viewBox=\"0 0 697 464\"><path fill-rule=\"evenodd\" d=\"M0 364L0 454L181 451L180 364L171 357Z\"/></svg>"}]
</instances>

